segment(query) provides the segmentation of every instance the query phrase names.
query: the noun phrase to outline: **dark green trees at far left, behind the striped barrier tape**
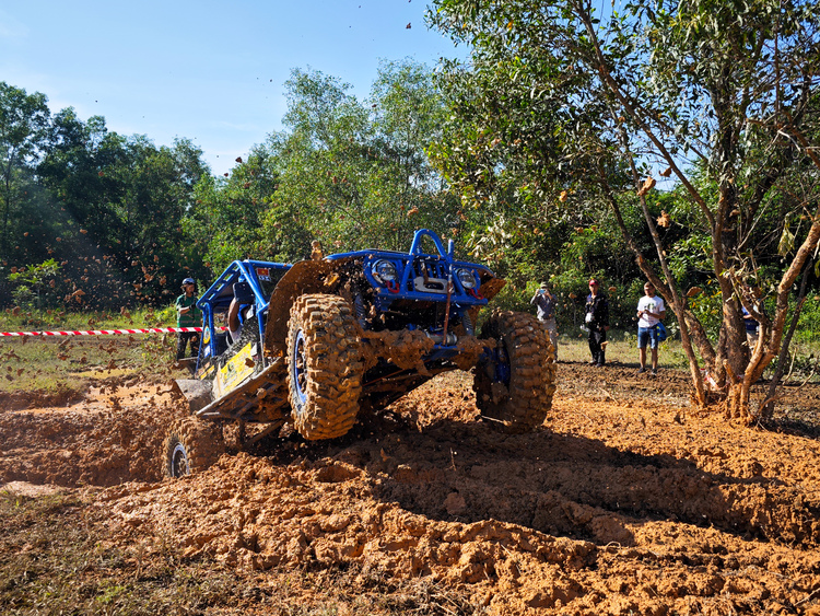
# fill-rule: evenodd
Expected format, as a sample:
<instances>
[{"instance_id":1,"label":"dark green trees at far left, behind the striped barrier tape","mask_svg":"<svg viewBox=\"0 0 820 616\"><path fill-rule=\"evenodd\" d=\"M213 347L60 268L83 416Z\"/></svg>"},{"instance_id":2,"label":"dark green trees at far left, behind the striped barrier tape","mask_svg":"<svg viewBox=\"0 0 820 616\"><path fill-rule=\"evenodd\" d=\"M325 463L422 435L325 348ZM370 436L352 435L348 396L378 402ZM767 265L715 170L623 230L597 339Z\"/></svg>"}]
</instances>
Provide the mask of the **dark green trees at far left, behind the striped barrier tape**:
<instances>
[{"instance_id":1,"label":"dark green trees at far left, behind the striped barrier tape","mask_svg":"<svg viewBox=\"0 0 820 616\"><path fill-rule=\"evenodd\" d=\"M83 121L72 108L51 116L46 101L0 84L2 267L56 260L56 289L73 307L169 294L165 281L189 256L179 249L188 244L181 221L207 174L201 151L185 139L157 148L121 137L102 117ZM0 278L0 304L12 290L25 300L26 289Z\"/></svg>"}]
</instances>

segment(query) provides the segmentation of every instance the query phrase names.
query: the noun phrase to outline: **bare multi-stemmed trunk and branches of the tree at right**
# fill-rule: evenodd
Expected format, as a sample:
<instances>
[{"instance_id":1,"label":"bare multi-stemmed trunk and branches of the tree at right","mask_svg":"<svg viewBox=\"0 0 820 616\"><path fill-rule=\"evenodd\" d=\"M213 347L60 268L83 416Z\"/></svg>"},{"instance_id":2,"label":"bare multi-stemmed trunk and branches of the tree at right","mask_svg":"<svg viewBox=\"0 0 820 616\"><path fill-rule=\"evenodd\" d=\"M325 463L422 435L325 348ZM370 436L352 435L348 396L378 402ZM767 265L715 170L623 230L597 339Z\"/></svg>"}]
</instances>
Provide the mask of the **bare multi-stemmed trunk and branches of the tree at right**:
<instances>
[{"instance_id":1,"label":"bare multi-stemmed trunk and branches of the tree at right","mask_svg":"<svg viewBox=\"0 0 820 616\"><path fill-rule=\"evenodd\" d=\"M737 281L734 280L735 272L733 268L738 265L740 266L743 261L743 256L738 254L738 228L737 228L737 159L739 155L739 140L741 131L746 130L746 121L742 120L746 117L746 105L748 102L741 102L740 108L738 108L737 101L735 98L736 91L735 84L731 81L734 75L734 60L725 58L722 70L715 71L712 75L710 83L706 84L706 90L712 98L712 104L715 111L715 121L718 127L716 128L717 143L715 144L714 153L716 154L711 160L717 165L717 177L718 182L718 202L716 211L713 212L712 208L706 204L703 195L696 189L696 187L689 182L686 173L678 166L678 159L673 153L667 149L661 139L656 135L652 125L646 120L651 117L651 112L647 114L647 109L641 107L640 98L632 97L628 94L630 88L624 88L613 77L609 69L609 59L605 56L601 50L601 45L598 39L598 31L596 24L591 19L591 12L588 3L574 1L570 3L570 8L576 13L578 19L584 24L584 28L589 37L589 40L594 45L594 57L590 58L590 68L597 70L602 84L609 90L614 101L610 104L609 113L616 126L620 126L621 147L624 154L628 158L632 170L633 181L635 186L639 187L639 179L635 170L634 158L630 148L629 139L625 136L625 129L623 124L619 121L621 115L629 116L635 126L644 133L648 141L656 149L656 154L660 156L669 165L669 168L680 179L681 185L691 196L694 204L700 208L704 220L708 224L710 234L712 236L712 266L713 274L719 284L721 295L723 299L723 318L722 327L718 339L716 352L708 353L707 349L711 348L708 339L705 333L693 328L695 333L694 340L702 345L703 357L712 359L711 368L714 369L718 379L725 387L727 395L727 409L731 416L747 416L749 410L749 386L750 382L743 386L748 380L757 377L765 369L765 367L774 358L773 349L778 349L781 339L783 336L783 328L786 318L786 312L788 310L788 293L794 284L797 274L803 269L803 265L811 251L818 244L820 239L820 206L812 219L811 228L808 235L800 246L800 249L795 255L788 270L783 274L781 283L777 287L776 302L777 309L774 319L771 322L771 328L766 329L766 339L763 345L758 345L755 352L752 356L753 367L751 370L747 370L749 351L743 345L746 340L746 332L742 323L742 315L738 305L738 299L736 297L738 286ZM758 50L759 51L759 50ZM619 105L619 109L616 111L613 105ZM620 113L622 111L622 114ZM640 111L640 113L639 113ZM816 154L808 140L800 133L798 129L794 127L788 113L785 109L778 109L789 118L788 126L777 126L780 131L784 129L792 133L792 136L800 143L806 155L808 155L812 163L820 170L820 155ZM739 113L738 113L739 112ZM705 159L704 159L705 161ZM715 171L715 170L713 170ZM606 184L606 176L601 174L601 179ZM608 187L605 189L608 193ZM678 321L681 326L681 339L684 342L684 349L689 358L690 368L693 373L694 385L698 392L698 396L703 400L703 383L700 377L700 370L696 365L696 359L691 348L690 338L688 336L689 323L696 323L694 315L687 317L686 313L686 299L680 298L676 286L675 279L670 275L665 253L659 243L657 230L655 229L654 222L648 216L645 200L643 199L642 190L639 190L639 197L641 197L641 205L644 211L644 218L648 225L649 232L652 233L653 241L658 253L660 266L664 271L664 276L668 281L668 284L658 287L656 280L657 276L652 272L652 268L645 263L637 251L631 243L629 235L623 224L623 220L619 218L619 226L621 228L624 237L628 239L628 244L635 252L639 267L642 271L647 275L647 278L656 286L658 292L667 299L672 305ZM611 205L614 204L614 199L611 194L607 194ZM616 207L616 214L619 212ZM659 280L658 280L659 281ZM668 291L668 293L667 293ZM748 307L747 307L748 310ZM766 322L768 324L769 322ZM766 325L768 327L768 325ZM684 333L686 330L686 333ZM743 379L739 379L742 374ZM755 376L757 375L757 376Z\"/></svg>"}]
</instances>

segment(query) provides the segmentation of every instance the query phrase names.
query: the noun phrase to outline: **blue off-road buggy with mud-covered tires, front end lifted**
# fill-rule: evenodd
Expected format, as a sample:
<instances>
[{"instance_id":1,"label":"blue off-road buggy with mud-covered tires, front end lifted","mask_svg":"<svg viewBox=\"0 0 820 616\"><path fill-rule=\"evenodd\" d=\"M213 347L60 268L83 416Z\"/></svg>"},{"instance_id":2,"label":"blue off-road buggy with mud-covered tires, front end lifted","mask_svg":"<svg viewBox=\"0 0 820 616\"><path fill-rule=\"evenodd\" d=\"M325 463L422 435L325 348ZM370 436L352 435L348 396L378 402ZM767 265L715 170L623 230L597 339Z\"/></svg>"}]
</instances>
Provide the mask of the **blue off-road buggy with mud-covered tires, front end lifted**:
<instances>
[{"instance_id":1,"label":"blue off-road buggy with mud-covered tires, front end lifted","mask_svg":"<svg viewBox=\"0 0 820 616\"><path fill-rule=\"evenodd\" d=\"M226 422L245 445L285 422L305 439L332 439L359 414L455 369L473 371L482 417L514 431L539 426L555 388L541 324L495 311L476 334L480 309L503 286L484 266L456 260L453 242L445 251L429 230L415 232L408 253L234 261L197 304L196 379L177 382L191 416L165 440L166 475L215 461ZM242 315L234 342L224 330L232 302Z\"/></svg>"}]
</instances>

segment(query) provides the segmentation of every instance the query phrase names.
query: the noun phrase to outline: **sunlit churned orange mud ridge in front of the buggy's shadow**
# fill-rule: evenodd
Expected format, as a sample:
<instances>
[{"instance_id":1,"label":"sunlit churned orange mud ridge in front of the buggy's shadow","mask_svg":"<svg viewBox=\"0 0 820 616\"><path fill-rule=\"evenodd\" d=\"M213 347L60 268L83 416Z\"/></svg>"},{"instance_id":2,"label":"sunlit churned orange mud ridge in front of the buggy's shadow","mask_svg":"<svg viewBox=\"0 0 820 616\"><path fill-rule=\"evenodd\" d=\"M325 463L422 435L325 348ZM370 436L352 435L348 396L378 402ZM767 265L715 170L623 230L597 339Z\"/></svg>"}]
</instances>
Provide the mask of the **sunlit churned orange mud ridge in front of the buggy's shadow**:
<instances>
[{"instance_id":1,"label":"sunlit churned orange mud ridge in front of the buggy's shadow","mask_svg":"<svg viewBox=\"0 0 820 616\"><path fill-rule=\"evenodd\" d=\"M493 614L769 614L820 588L816 550L715 527L643 520L629 526L633 545L624 546L504 519L472 521L479 515L465 515L471 503L464 492L446 493L449 470L413 469L387 453L415 444L407 432L394 434L296 448L301 454L290 461L225 456L179 481L110 488L99 507L125 545L174 537L184 558L215 557L251 576L341 567L363 585L429 578L462 589ZM424 507L386 498L385 483L417 476L430 488L419 499Z\"/></svg>"}]
</instances>

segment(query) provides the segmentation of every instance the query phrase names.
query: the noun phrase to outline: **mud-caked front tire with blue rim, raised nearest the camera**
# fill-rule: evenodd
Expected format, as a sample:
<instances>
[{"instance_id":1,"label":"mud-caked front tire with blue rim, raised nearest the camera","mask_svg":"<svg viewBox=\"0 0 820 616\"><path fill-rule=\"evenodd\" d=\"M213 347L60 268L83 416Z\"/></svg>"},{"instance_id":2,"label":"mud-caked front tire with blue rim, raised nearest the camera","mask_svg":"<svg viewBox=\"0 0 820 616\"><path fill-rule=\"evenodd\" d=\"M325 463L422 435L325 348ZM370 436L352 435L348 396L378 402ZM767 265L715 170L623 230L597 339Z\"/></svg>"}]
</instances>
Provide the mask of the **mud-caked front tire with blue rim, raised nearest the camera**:
<instances>
[{"instance_id":1,"label":"mud-caked front tire with blue rim, raised nearest the camera","mask_svg":"<svg viewBox=\"0 0 820 616\"><path fill-rule=\"evenodd\" d=\"M359 326L347 300L305 294L288 323L288 385L293 423L305 439L342 437L362 394Z\"/></svg>"}]
</instances>

